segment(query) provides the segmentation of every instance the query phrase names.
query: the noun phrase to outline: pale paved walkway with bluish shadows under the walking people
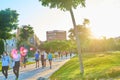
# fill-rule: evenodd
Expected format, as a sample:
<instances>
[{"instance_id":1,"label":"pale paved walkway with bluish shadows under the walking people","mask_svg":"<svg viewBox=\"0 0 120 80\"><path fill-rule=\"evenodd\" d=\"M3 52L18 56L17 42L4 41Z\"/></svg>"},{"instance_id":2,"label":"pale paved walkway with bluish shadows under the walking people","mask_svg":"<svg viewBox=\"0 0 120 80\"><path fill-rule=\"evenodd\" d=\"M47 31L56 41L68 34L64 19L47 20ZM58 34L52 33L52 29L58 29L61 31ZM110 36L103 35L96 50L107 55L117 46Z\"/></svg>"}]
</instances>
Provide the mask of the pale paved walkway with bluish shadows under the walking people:
<instances>
[{"instance_id":1,"label":"pale paved walkway with bluish shadows under the walking people","mask_svg":"<svg viewBox=\"0 0 120 80\"><path fill-rule=\"evenodd\" d=\"M49 67L49 63L47 61L47 66L42 69L41 66L39 68L35 68L35 64L27 65L26 68L20 69L19 80L49 80L48 78L52 75L56 70L58 70L62 65L64 65L69 60L69 57L53 60L52 69ZM4 80L4 76L0 72L0 80ZM15 80L15 75L12 70L8 71L8 79L7 80Z\"/></svg>"}]
</instances>

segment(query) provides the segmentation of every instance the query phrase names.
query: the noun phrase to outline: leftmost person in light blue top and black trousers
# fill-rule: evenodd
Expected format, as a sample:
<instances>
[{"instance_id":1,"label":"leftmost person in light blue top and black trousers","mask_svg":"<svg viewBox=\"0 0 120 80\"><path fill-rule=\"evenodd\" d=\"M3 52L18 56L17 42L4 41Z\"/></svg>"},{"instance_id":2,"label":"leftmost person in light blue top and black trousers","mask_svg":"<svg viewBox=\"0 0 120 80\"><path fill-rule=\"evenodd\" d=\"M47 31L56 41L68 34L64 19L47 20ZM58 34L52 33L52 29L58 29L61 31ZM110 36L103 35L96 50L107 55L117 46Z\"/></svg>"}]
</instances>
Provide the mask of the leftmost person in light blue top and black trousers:
<instances>
[{"instance_id":1,"label":"leftmost person in light blue top and black trousers","mask_svg":"<svg viewBox=\"0 0 120 80\"><path fill-rule=\"evenodd\" d=\"M8 78L8 68L10 63L10 57L8 56L7 52L3 52L3 55L1 55L2 58L2 73L5 76L6 80Z\"/></svg>"}]
</instances>

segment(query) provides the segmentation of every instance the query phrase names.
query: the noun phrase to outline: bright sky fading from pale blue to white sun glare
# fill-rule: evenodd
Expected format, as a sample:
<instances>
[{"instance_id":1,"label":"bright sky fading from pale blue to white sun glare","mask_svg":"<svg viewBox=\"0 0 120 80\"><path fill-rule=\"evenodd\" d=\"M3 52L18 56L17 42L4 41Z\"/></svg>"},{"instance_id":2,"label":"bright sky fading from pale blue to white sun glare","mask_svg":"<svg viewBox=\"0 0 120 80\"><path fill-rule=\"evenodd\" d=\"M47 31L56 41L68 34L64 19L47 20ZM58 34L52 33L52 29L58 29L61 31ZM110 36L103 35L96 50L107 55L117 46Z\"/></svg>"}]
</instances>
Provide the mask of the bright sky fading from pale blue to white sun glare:
<instances>
[{"instance_id":1,"label":"bright sky fading from pale blue to white sun glare","mask_svg":"<svg viewBox=\"0 0 120 80\"><path fill-rule=\"evenodd\" d=\"M0 0L0 10L11 8L19 13L19 26L30 24L41 41L46 40L46 31L73 28L70 13L50 9L39 0ZM120 0L86 0L86 7L73 10L76 23L84 18L90 20L87 26L96 38L120 36ZM68 35L68 33L67 33Z\"/></svg>"}]
</instances>

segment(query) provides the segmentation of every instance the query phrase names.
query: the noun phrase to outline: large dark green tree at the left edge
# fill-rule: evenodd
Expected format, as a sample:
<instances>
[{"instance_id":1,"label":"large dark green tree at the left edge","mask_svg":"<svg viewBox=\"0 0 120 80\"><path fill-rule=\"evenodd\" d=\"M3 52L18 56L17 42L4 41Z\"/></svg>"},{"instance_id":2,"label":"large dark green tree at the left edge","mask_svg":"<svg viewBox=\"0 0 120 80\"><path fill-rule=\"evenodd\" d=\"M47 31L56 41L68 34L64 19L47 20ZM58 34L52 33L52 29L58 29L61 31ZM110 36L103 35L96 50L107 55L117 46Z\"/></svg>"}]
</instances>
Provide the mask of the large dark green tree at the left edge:
<instances>
[{"instance_id":1,"label":"large dark green tree at the left edge","mask_svg":"<svg viewBox=\"0 0 120 80\"><path fill-rule=\"evenodd\" d=\"M18 13L10 8L0 11L0 39L10 39L12 30L17 28ZM4 46L3 46L4 47Z\"/></svg>"}]
</instances>

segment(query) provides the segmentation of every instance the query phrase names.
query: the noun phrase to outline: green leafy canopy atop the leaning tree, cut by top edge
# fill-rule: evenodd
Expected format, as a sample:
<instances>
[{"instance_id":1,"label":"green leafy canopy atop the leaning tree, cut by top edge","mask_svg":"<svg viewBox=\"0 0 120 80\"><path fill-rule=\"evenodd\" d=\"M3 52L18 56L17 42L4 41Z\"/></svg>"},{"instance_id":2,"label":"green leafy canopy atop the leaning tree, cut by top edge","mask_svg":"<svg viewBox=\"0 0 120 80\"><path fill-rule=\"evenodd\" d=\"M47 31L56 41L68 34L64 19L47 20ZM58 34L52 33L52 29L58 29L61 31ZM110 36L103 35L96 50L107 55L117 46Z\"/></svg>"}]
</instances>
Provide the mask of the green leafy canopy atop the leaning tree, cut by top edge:
<instances>
[{"instance_id":1,"label":"green leafy canopy atop the leaning tree, cut by top edge","mask_svg":"<svg viewBox=\"0 0 120 80\"><path fill-rule=\"evenodd\" d=\"M85 0L39 0L43 6L58 8L61 10L70 10L78 5L85 6Z\"/></svg>"}]
</instances>

